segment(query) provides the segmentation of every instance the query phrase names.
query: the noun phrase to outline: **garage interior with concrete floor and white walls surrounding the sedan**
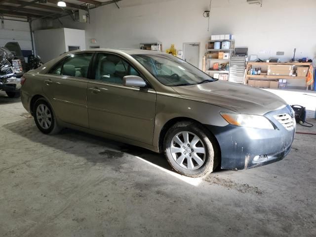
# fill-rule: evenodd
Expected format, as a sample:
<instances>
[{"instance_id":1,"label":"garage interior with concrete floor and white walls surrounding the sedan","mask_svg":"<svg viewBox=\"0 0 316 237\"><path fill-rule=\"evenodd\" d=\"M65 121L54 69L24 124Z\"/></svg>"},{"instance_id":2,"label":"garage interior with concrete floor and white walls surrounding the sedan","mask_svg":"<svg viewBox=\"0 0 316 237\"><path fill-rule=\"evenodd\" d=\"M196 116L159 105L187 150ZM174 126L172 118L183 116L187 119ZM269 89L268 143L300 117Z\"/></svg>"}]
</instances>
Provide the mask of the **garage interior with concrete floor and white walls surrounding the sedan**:
<instances>
[{"instance_id":1,"label":"garage interior with concrete floor and white walls surrounding the sedan","mask_svg":"<svg viewBox=\"0 0 316 237\"><path fill-rule=\"evenodd\" d=\"M24 72L34 55L161 51L306 109L284 159L190 178L144 148L42 134L0 90L0 236L315 237L315 11L315 0L0 0L0 47L18 43Z\"/></svg>"}]
</instances>

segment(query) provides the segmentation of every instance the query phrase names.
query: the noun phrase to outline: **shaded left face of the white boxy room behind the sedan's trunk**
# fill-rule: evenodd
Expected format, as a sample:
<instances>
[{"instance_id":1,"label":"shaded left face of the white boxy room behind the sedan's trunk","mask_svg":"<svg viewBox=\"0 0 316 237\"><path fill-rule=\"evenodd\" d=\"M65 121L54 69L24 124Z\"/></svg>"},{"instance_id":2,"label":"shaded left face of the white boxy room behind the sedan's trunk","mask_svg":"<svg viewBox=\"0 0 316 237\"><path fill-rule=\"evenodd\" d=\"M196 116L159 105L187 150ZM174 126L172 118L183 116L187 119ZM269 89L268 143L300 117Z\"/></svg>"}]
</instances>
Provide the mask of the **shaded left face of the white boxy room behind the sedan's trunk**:
<instances>
[{"instance_id":1,"label":"shaded left face of the white boxy room behind the sedan's trunk","mask_svg":"<svg viewBox=\"0 0 316 237\"><path fill-rule=\"evenodd\" d=\"M36 31L35 47L43 63L58 57L66 50L64 29Z\"/></svg>"}]
</instances>

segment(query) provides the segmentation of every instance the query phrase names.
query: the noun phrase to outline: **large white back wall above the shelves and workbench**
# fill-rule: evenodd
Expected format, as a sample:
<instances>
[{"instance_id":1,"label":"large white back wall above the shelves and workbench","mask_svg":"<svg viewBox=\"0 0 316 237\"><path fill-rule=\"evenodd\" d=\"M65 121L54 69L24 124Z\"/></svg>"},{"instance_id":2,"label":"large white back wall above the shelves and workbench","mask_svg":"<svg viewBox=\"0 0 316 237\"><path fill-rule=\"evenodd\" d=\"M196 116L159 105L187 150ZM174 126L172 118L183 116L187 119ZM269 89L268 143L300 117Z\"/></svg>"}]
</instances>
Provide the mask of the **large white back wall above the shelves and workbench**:
<instances>
[{"instance_id":1,"label":"large white back wall above the shelves and workbench","mask_svg":"<svg viewBox=\"0 0 316 237\"><path fill-rule=\"evenodd\" d=\"M232 33L236 46L247 46L259 58L289 60L316 55L316 0L263 0L262 7L246 0L212 0L210 29L202 16L209 0L122 0L91 10L91 23L62 19L64 26L86 30L86 46L138 48L139 42L161 41L182 49L183 42L201 42L200 55L211 34ZM59 24L56 21L54 24ZM201 65L201 63L200 63ZM292 80L291 85L304 85Z\"/></svg>"}]
</instances>

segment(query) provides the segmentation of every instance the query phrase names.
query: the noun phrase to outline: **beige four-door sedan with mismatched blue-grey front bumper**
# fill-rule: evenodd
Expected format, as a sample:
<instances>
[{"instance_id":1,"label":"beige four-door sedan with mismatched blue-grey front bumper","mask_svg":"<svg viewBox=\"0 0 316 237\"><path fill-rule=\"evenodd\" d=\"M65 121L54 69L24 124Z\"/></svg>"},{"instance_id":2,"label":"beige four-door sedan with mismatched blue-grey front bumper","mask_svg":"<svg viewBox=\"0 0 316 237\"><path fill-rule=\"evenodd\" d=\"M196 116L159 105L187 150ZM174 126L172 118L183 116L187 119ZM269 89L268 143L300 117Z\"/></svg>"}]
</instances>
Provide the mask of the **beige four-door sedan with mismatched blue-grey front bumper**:
<instances>
[{"instance_id":1,"label":"beige four-door sedan with mismatched blue-grey front bumper","mask_svg":"<svg viewBox=\"0 0 316 237\"><path fill-rule=\"evenodd\" d=\"M21 83L41 132L69 127L164 153L190 177L280 160L295 134L294 113L278 96L161 52L72 51Z\"/></svg>"}]
</instances>

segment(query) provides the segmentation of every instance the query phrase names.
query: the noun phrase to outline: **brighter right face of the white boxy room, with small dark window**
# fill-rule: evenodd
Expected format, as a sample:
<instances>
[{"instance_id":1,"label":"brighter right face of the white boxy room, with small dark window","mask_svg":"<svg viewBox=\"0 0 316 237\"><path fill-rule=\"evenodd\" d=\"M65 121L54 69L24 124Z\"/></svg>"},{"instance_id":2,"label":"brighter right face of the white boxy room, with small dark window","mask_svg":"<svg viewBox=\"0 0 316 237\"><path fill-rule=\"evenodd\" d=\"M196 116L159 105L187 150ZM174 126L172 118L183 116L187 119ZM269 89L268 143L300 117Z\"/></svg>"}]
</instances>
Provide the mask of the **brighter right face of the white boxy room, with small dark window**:
<instances>
[{"instance_id":1,"label":"brighter right face of the white boxy room, with small dark window","mask_svg":"<svg viewBox=\"0 0 316 237\"><path fill-rule=\"evenodd\" d=\"M68 51L68 46L79 46L80 49L85 49L84 30L64 28L64 32L66 51Z\"/></svg>"}]
</instances>

